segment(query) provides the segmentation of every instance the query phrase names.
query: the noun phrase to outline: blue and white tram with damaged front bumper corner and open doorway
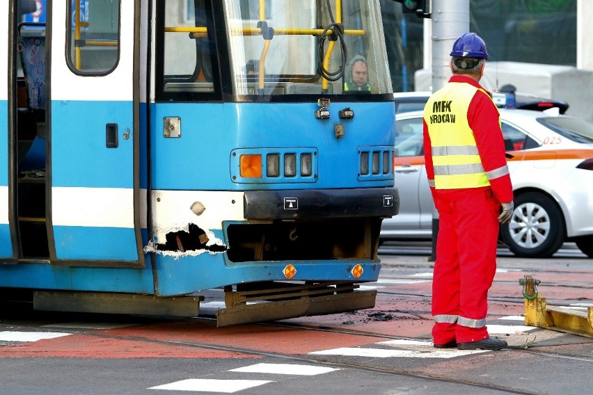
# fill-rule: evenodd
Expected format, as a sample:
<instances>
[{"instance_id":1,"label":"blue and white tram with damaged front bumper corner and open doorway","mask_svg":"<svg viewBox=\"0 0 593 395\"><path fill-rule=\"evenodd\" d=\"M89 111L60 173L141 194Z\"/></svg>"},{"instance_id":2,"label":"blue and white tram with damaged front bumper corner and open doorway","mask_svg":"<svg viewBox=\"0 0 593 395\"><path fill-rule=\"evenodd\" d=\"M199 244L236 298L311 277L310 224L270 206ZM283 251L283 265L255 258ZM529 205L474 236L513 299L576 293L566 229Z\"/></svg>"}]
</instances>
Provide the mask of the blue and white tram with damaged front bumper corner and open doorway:
<instances>
[{"instance_id":1,"label":"blue and white tram with damaged front bumper corner and open doorway","mask_svg":"<svg viewBox=\"0 0 593 395\"><path fill-rule=\"evenodd\" d=\"M399 207L378 0L23 6L0 4L3 293L197 316L224 289L220 326L374 306Z\"/></svg>"}]
</instances>

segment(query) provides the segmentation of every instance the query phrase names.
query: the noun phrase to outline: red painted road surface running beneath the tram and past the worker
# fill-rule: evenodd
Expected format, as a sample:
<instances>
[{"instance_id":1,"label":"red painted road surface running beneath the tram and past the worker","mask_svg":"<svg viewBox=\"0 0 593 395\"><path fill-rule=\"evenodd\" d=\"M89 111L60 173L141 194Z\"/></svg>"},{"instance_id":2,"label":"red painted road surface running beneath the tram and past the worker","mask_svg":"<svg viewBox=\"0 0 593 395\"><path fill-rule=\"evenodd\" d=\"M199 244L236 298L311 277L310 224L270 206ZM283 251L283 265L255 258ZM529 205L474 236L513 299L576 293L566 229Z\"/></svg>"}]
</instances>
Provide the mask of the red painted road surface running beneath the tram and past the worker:
<instances>
[{"instance_id":1,"label":"red painted road surface running beneath the tram and past the worker","mask_svg":"<svg viewBox=\"0 0 593 395\"><path fill-rule=\"evenodd\" d=\"M430 271L425 266L425 257L420 260L418 273ZM413 261L412 261L413 263ZM514 262L513 262L514 263ZM534 262L537 264L537 262ZM501 266L501 265L499 265ZM521 266L525 266L523 263ZM387 266L389 267L389 266ZM509 267L508 263L506 267ZM583 269L585 267L585 269ZM413 277L411 266L402 266L402 272L393 267L388 280ZM548 300L593 300L590 288L592 270L581 266L580 270L548 269L539 271L534 277L541 280L538 287ZM522 299L519 279L528 271L499 271L489 298ZM370 284L373 286L373 284ZM431 339L433 325L430 314L432 282L393 284L386 281L379 287L377 303L373 309L347 314L303 317L286 320L315 327L353 330L356 334L338 332L310 332L299 328L281 328L271 325L239 325L230 328L216 328L212 322L203 320L164 321L109 330L91 330L89 334L72 334L56 339L31 343L6 345L0 348L0 357L93 357L93 358L253 358L251 353L235 353L212 350L200 345L221 346L253 350L254 352L303 355L312 351L330 348L356 347L374 344L380 337ZM503 316L520 316L523 303L489 301L488 323L497 323ZM366 334L365 334L366 333ZM368 334L368 335L367 335ZM72 344L76 346L72 347ZM192 346L193 344L193 346Z\"/></svg>"}]
</instances>

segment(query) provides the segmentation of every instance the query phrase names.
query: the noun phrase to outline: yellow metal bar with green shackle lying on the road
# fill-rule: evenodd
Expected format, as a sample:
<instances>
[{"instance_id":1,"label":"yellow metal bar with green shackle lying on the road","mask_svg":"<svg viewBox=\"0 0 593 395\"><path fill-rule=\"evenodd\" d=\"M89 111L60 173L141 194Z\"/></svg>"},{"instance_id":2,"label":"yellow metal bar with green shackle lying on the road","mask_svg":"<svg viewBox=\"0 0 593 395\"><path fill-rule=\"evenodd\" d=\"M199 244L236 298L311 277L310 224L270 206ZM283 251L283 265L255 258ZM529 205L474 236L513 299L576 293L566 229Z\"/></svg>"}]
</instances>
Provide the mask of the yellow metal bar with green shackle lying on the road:
<instances>
[{"instance_id":1,"label":"yellow metal bar with green shackle lying on the road","mask_svg":"<svg viewBox=\"0 0 593 395\"><path fill-rule=\"evenodd\" d=\"M519 284L525 298L525 325L593 337L593 306L548 306L537 291L539 280L525 275Z\"/></svg>"}]
</instances>

